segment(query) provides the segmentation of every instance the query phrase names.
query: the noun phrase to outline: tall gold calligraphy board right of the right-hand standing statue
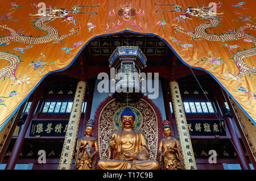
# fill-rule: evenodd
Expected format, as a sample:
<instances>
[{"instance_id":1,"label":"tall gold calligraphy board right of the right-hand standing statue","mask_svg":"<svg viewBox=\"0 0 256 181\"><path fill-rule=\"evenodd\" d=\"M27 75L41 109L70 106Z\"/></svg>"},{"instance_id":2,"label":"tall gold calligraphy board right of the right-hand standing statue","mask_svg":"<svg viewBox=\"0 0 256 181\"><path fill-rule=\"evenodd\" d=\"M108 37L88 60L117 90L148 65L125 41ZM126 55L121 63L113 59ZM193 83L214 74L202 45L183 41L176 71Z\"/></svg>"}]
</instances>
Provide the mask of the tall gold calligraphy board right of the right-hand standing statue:
<instances>
[{"instance_id":1,"label":"tall gold calligraphy board right of the right-hand standing statue","mask_svg":"<svg viewBox=\"0 0 256 181\"><path fill-rule=\"evenodd\" d=\"M177 131L179 133L181 149L184 158L185 169L194 170L197 169L196 161L193 153L191 139L188 131L187 119L181 100L179 85L176 81L170 82L172 104L174 105L174 113L177 124Z\"/></svg>"}]
</instances>

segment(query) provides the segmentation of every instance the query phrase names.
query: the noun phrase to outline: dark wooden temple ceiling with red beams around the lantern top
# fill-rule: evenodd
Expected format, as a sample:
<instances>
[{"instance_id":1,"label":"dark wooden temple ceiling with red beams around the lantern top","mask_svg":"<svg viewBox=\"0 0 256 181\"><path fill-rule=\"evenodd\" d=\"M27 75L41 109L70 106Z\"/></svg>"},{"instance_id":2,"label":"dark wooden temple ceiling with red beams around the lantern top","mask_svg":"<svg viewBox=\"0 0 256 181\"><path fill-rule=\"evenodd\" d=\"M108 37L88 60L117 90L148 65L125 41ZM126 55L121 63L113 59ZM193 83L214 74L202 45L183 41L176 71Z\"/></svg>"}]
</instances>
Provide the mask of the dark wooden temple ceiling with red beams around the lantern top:
<instances>
[{"instance_id":1,"label":"dark wooden temple ceiling with red beams around the lantern top","mask_svg":"<svg viewBox=\"0 0 256 181\"><path fill-rule=\"evenodd\" d=\"M118 46L139 46L147 57L145 73L159 73L159 77L177 79L191 75L191 70L185 66L172 52L164 41L152 35L137 33L118 33L115 35L96 37L91 40L67 70L53 73L55 75L69 75L71 77L97 78L98 73L109 73L108 59ZM197 75L206 75L204 71L193 69Z\"/></svg>"}]
</instances>

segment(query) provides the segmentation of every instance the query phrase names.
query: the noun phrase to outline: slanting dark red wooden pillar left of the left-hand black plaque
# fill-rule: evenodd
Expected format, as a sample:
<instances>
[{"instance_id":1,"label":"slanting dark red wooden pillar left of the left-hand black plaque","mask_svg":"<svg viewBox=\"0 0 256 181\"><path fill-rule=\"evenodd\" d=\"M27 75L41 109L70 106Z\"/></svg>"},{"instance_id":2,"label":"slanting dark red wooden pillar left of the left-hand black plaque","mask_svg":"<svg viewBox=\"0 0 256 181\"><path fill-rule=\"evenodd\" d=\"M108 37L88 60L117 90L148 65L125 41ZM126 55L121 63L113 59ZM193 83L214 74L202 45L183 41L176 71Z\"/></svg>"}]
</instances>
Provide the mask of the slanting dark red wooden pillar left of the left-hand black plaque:
<instances>
[{"instance_id":1,"label":"slanting dark red wooden pillar left of the left-hand black plaque","mask_svg":"<svg viewBox=\"0 0 256 181\"><path fill-rule=\"evenodd\" d=\"M10 158L8 159L5 170L14 170L14 168L15 168L16 162L18 161L20 151L22 150L22 146L24 144L24 140L25 140L24 136L26 135L28 127L31 123L32 116L34 115L36 107L38 106L39 100L41 98L40 93L42 93L42 89L40 92L36 92L36 94L33 95L32 103L30 106L30 110L28 111L27 119L25 121L25 124L22 127L22 130L20 131L20 133L16 139L14 148L11 151L11 155L10 155Z\"/></svg>"}]
</instances>

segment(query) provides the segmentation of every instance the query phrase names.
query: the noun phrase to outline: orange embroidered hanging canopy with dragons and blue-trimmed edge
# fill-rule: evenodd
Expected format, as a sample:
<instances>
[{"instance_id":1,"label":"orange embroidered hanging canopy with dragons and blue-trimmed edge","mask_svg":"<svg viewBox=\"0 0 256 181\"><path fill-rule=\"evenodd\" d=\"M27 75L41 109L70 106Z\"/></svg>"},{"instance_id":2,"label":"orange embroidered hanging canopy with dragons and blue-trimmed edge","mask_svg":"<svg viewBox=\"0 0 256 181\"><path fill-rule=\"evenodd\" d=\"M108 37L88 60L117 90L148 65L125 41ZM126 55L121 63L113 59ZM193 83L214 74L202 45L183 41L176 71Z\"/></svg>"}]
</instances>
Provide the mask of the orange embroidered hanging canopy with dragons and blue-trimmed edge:
<instances>
[{"instance_id":1,"label":"orange embroidered hanging canopy with dragons and blue-trimmed edge","mask_svg":"<svg viewBox=\"0 0 256 181\"><path fill-rule=\"evenodd\" d=\"M36 86L97 36L155 35L207 71L255 124L254 0L9 1L0 12L0 130Z\"/></svg>"}]
</instances>

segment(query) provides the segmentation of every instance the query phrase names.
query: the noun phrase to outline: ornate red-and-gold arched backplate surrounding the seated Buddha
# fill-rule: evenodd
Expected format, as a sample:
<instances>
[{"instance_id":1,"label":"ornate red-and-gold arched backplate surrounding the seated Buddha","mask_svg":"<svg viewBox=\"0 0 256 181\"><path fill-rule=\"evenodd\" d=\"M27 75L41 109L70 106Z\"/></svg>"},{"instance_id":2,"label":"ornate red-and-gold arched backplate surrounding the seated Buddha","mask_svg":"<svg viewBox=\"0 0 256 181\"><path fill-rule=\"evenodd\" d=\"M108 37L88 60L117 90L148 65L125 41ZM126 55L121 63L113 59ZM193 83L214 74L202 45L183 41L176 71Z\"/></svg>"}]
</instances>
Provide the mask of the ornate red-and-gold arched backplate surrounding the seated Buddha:
<instances>
[{"instance_id":1,"label":"ornate red-and-gold arched backplate surrounding the seated Buddha","mask_svg":"<svg viewBox=\"0 0 256 181\"><path fill-rule=\"evenodd\" d=\"M102 108L98 117L98 148L100 159L106 158L106 148L103 145L108 145L108 138L117 127L114 125L113 117L120 108L126 107L126 103L119 103L112 99ZM147 137L148 147L155 146L149 152L150 159L156 160L158 150L158 117L154 108L144 99L140 99L137 103L130 103L129 107L138 110L142 115L144 110L148 110L148 115L142 115L142 126L139 128ZM101 146L102 145L102 146Z\"/></svg>"}]
</instances>

